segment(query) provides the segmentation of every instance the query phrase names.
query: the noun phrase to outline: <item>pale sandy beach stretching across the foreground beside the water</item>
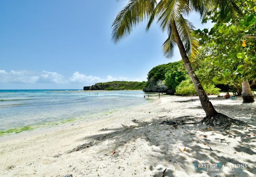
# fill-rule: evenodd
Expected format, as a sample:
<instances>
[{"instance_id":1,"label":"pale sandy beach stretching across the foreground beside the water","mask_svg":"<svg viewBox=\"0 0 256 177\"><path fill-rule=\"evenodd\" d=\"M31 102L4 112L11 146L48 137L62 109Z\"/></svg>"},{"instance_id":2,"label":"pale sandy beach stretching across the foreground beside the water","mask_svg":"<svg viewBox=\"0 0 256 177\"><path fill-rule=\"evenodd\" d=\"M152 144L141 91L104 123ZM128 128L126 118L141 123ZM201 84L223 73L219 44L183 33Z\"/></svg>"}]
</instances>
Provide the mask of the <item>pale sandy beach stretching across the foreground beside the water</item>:
<instances>
[{"instance_id":1,"label":"pale sandy beach stretching across the foreground beside the water","mask_svg":"<svg viewBox=\"0 0 256 177\"><path fill-rule=\"evenodd\" d=\"M0 175L255 176L256 103L217 96L210 100L217 111L244 120L247 127L224 131L191 124L205 115L198 97L162 96L100 120L2 136ZM167 125L163 123L166 120L182 125ZM206 171L195 170L195 163L247 166Z\"/></svg>"}]
</instances>

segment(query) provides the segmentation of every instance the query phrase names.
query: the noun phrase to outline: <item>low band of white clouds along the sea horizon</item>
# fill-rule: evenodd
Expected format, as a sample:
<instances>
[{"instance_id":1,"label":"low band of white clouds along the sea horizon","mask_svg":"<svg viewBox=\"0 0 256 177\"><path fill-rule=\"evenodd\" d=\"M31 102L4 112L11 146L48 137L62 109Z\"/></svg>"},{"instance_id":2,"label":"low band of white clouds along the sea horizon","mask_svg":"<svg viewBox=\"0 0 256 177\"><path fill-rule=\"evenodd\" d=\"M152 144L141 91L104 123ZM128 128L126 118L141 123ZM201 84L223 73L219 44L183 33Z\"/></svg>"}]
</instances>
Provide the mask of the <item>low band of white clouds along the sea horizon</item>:
<instances>
[{"instance_id":1,"label":"low band of white clouds along the sea horizon","mask_svg":"<svg viewBox=\"0 0 256 177\"><path fill-rule=\"evenodd\" d=\"M127 77L112 77L100 78L98 76L86 76L80 74L78 71L74 72L71 77L64 77L57 72L31 72L27 70L11 70L7 72L0 70L0 83L56 83L56 84L68 84L68 83L83 83L93 84L98 82L109 81L145 81L145 78L128 79Z\"/></svg>"}]
</instances>

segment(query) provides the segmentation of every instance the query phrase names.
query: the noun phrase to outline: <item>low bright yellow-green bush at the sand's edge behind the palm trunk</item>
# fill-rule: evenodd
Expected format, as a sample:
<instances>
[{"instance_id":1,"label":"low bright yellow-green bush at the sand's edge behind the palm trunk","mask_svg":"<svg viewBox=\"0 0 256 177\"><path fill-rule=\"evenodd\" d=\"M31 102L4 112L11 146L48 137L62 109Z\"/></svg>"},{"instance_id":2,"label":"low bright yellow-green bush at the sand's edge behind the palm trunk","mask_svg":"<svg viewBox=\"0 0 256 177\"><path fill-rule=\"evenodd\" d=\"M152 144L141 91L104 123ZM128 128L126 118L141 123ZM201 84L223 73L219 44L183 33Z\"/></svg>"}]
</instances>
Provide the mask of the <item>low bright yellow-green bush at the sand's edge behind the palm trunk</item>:
<instances>
[{"instance_id":1,"label":"low bright yellow-green bush at the sand's edge behind the palm trunk","mask_svg":"<svg viewBox=\"0 0 256 177\"><path fill-rule=\"evenodd\" d=\"M221 90L219 88L216 88L215 85L213 84L203 85L203 87L206 94L211 94L211 95L217 95ZM195 86L193 85L192 81L189 78L187 78L186 80L182 81L180 85L176 87L175 94L191 96L191 95L196 95L197 91L195 90Z\"/></svg>"}]
</instances>

